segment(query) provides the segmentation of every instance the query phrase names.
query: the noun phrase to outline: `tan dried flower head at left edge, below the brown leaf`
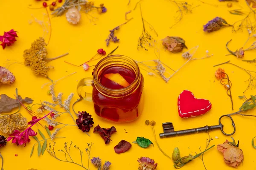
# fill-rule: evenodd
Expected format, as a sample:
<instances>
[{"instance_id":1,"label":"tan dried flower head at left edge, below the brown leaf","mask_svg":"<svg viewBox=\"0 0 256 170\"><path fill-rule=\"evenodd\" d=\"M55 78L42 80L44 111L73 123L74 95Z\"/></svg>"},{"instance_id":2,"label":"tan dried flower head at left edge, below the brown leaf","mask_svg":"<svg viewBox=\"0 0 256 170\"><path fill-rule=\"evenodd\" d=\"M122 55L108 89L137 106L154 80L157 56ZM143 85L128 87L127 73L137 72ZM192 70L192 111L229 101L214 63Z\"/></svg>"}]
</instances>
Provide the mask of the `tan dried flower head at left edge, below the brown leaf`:
<instances>
[{"instance_id":1,"label":"tan dried flower head at left edge, below the brown leaf","mask_svg":"<svg viewBox=\"0 0 256 170\"><path fill-rule=\"evenodd\" d=\"M27 127L27 119L20 113L0 115L0 131L5 134L12 134L15 130L22 130Z\"/></svg>"}]
</instances>

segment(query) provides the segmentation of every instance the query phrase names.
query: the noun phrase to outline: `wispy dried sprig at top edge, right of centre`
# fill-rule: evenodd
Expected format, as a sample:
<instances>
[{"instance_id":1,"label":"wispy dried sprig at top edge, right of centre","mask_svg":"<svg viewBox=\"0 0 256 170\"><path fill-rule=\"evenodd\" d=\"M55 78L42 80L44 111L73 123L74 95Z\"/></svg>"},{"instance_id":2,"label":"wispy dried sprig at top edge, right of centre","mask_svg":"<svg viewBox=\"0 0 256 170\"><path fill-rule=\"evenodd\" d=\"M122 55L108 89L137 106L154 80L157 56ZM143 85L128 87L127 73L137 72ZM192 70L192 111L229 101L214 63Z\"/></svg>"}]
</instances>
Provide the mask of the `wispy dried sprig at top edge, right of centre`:
<instances>
[{"instance_id":1,"label":"wispy dried sprig at top edge, right of centre","mask_svg":"<svg viewBox=\"0 0 256 170\"><path fill-rule=\"evenodd\" d=\"M182 20L184 12L186 14L192 13L193 8L198 7L198 6L193 6L192 4L187 3L186 1L177 1L177 0L170 0L170 1L175 3L175 5L178 7L178 10L176 11L178 14L175 17L176 23L173 24L170 28L177 25L177 23L179 23Z\"/></svg>"}]
</instances>

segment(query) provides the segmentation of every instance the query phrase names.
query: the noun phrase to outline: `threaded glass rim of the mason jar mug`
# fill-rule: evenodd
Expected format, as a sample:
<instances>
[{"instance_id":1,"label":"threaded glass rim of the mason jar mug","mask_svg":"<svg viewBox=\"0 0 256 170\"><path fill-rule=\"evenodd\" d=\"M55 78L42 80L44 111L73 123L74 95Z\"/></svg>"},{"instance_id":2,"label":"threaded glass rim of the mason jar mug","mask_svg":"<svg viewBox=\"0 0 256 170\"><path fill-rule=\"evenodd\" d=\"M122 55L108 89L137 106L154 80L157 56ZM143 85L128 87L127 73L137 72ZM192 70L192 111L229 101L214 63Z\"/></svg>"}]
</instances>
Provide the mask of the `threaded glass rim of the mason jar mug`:
<instances>
[{"instance_id":1,"label":"threaded glass rim of the mason jar mug","mask_svg":"<svg viewBox=\"0 0 256 170\"><path fill-rule=\"evenodd\" d=\"M134 89L134 87L137 86L138 84L138 81L140 81L140 68L139 66L137 65L137 63L134 61L134 59L131 59L130 57L128 56L125 56L125 55L119 55L119 54L115 54L115 55L110 55L108 57L105 57L103 59L101 59L95 66L94 68L94 71L98 71L99 67L101 66L101 63L104 62L104 61L107 61L109 59L125 59L127 60L128 62L131 62L131 64L134 66L134 69L135 69L135 74L136 74L136 77L134 79L134 81L127 87L125 88L119 88L119 89L112 89L112 88L107 88L105 87L104 85L102 85L99 80L98 80L98 77L96 73L93 74L93 81L94 81L94 84L96 83L96 86L99 86L99 88L101 88L101 90L99 90L97 87L97 89L99 91L107 91L108 93L111 93L111 94L114 94L114 95L120 95L120 94L126 94L127 92L130 92L132 89Z\"/></svg>"}]
</instances>

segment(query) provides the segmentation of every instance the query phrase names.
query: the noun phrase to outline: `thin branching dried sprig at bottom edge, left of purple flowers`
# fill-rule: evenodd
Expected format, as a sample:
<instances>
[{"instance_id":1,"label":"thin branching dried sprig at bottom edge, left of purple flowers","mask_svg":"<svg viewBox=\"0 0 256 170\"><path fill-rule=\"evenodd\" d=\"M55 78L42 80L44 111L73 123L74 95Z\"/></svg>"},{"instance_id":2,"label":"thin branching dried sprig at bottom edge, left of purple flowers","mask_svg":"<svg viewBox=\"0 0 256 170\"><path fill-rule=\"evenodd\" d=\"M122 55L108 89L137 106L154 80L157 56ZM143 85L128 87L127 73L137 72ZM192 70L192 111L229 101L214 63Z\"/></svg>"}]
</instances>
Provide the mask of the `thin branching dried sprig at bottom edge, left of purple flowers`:
<instances>
[{"instance_id":1,"label":"thin branching dried sprig at bottom edge, left of purple flowers","mask_svg":"<svg viewBox=\"0 0 256 170\"><path fill-rule=\"evenodd\" d=\"M54 157L55 159L59 160L59 161L64 161L64 162L69 162L69 163L72 163L72 164L76 164L82 168L84 168L85 170L90 170L90 152L91 152L91 147L93 145L93 143L87 143L87 148L85 148L85 151L88 155L88 167L84 167L84 164L83 164L83 151L77 147L76 145L74 145L74 147L79 150L79 153L80 153L80 157L81 157L81 163L76 163L75 161L73 161L72 159L72 156L70 154L70 149L73 145L73 142L71 141L70 143L70 146L67 146L67 142L64 143L64 150L58 150L59 152L63 152L64 155L65 155L65 159L60 159L56 156L56 153L55 153L55 150L54 150L54 147L55 147L55 144L56 142L53 142L53 145L51 145L51 143L49 143L49 148L47 147L47 152L52 156Z\"/></svg>"}]
</instances>

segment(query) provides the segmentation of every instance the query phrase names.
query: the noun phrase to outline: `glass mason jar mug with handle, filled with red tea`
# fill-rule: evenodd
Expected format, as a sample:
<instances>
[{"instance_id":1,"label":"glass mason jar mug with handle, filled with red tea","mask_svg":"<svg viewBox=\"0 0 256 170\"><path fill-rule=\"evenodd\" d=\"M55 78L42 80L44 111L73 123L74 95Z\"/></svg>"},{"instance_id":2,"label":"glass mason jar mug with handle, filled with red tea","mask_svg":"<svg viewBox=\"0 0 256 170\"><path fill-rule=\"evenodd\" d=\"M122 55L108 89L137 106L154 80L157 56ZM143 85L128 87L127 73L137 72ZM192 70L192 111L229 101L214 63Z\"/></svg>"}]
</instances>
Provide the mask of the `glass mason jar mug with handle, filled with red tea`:
<instances>
[{"instance_id":1,"label":"glass mason jar mug with handle, filled with red tea","mask_svg":"<svg viewBox=\"0 0 256 170\"><path fill-rule=\"evenodd\" d=\"M92 94L85 86L92 85ZM112 55L100 60L93 78L77 85L80 98L92 101L96 114L112 122L131 122L143 110L144 78L137 63L126 56Z\"/></svg>"}]
</instances>

